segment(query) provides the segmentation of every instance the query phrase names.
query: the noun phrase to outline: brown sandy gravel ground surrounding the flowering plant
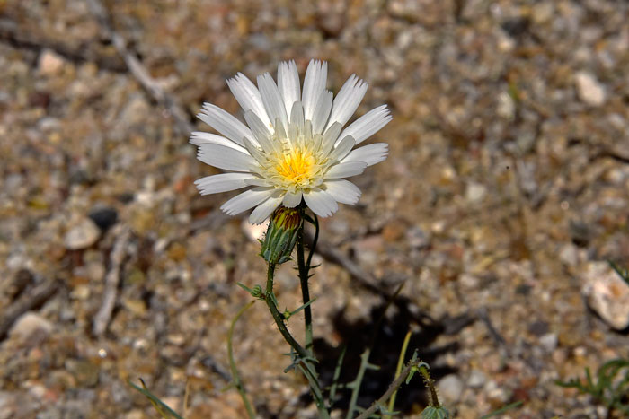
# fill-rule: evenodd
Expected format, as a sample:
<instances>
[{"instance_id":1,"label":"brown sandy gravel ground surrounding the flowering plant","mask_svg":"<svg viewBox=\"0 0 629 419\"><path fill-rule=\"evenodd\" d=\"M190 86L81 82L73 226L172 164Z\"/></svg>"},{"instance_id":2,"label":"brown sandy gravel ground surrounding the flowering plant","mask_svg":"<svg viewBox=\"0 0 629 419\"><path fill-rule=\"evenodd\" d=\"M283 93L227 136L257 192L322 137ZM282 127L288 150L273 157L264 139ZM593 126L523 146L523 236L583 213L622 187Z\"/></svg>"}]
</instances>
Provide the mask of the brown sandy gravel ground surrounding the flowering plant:
<instances>
[{"instance_id":1,"label":"brown sandy gravel ground surrounding the flowering plant","mask_svg":"<svg viewBox=\"0 0 629 419\"><path fill-rule=\"evenodd\" d=\"M392 379L403 336L444 403L474 418L607 411L555 380L629 356L629 4L624 1L0 1L0 418L150 418L142 377L187 418L244 417L226 334L265 266L243 217L192 182L203 101L280 60L330 63L388 103L387 161L359 205L322 221L312 281L317 353L342 380L387 310L360 402ZM102 17L102 16L101 16ZM109 28L108 28L109 24ZM115 48L124 39L157 91ZM182 114L173 115L181 106ZM341 262L341 264L339 263ZM350 274L348 265L359 272ZM279 270L281 304L299 304ZM109 304L109 305L108 305ZM107 308L111 310L108 310ZM301 336L301 319L291 319ZM288 345L257 303L235 354L261 417L315 417ZM411 417L421 380L400 395ZM347 397L340 400L341 417ZM620 417L620 416L618 416Z\"/></svg>"}]
</instances>

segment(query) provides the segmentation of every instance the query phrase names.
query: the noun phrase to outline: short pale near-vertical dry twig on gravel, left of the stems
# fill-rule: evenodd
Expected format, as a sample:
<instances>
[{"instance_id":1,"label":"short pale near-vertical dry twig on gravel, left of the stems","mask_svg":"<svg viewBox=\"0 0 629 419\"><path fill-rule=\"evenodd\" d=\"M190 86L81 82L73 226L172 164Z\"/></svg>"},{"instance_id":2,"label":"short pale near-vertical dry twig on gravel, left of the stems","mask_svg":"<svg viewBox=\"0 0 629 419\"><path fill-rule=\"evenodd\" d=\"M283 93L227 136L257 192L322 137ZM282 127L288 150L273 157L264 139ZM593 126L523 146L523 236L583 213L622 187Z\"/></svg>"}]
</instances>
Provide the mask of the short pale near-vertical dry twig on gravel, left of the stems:
<instances>
[{"instance_id":1,"label":"short pale near-vertical dry twig on gravel, left of the stems","mask_svg":"<svg viewBox=\"0 0 629 419\"><path fill-rule=\"evenodd\" d=\"M120 266L126 256L126 248L130 231L126 229L122 231L116 239L111 250L111 268L105 276L105 292L102 297L102 306L98 310L93 321L93 334L94 336L102 336L107 330L107 326L111 320L111 313L116 304L118 297L118 284L120 283Z\"/></svg>"}]
</instances>

